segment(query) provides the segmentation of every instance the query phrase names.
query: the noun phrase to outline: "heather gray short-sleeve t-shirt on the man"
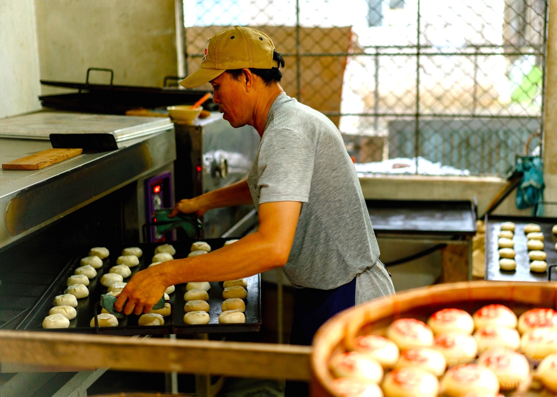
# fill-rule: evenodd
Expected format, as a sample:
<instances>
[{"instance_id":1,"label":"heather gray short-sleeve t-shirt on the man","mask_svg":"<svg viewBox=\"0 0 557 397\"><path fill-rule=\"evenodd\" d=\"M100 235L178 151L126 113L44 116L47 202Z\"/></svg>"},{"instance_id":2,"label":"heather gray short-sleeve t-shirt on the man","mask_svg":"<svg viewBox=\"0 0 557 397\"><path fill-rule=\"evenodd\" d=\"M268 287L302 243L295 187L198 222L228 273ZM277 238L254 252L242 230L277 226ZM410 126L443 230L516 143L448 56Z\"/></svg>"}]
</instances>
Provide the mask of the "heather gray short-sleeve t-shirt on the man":
<instances>
[{"instance_id":1,"label":"heather gray short-sleeve t-shirt on the man","mask_svg":"<svg viewBox=\"0 0 557 397\"><path fill-rule=\"evenodd\" d=\"M256 209L300 201L286 277L329 290L356 279L356 304L394 292L360 183L339 130L322 113L281 93L247 178Z\"/></svg>"}]
</instances>

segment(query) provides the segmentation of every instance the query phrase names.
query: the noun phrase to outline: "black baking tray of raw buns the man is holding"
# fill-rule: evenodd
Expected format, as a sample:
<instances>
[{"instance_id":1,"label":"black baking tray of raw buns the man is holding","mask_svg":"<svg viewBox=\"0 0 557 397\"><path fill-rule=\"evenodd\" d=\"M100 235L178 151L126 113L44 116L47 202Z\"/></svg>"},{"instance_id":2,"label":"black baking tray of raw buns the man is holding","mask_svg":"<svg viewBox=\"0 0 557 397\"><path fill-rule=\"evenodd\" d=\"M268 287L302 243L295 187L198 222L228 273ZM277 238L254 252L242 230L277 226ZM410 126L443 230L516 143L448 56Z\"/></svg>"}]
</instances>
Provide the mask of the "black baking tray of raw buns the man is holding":
<instances>
[{"instance_id":1,"label":"black baking tray of raw buns the man is holding","mask_svg":"<svg viewBox=\"0 0 557 397\"><path fill-rule=\"evenodd\" d=\"M212 250L221 248L224 242L228 239L203 239L211 245ZM172 244L176 249L174 259L181 259L187 257L189 254L192 242L198 240L173 241ZM130 277L124 279L127 282L139 270L146 269L151 264L151 258L154 255L155 247L162 243L149 243L140 244L139 247L143 250L143 256L139 259L139 266L131 268ZM110 247L110 256L103 260L104 265L101 269L97 269L97 276L90 280L89 296L77 300L77 316L75 319L70 320L70 327L66 329L48 329L45 331L58 331L58 332L75 332L75 333L95 333L95 327L89 325L92 317L94 316L95 304L99 302L100 295L106 293L106 287L100 284L100 277L109 271L110 267L116 264L116 259L121 254L125 247ZM87 256L87 251L83 252L81 257ZM42 321L48 315L48 310L52 307L52 301L56 295L63 294L66 289L67 277L74 274L76 267L80 265L81 257L71 259L66 267L62 270L60 275L48 287L45 294L38 300L37 304L31 311L22 319L17 325L16 329L25 330L43 330ZM247 291L248 296L246 302L246 322L243 324L219 324L218 315L221 313L222 298L222 282L211 282L211 290L209 290L209 315L211 320L209 324L188 325L184 324L184 293L185 284L176 285L175 291L170 294L170 301L172 301L173 314L165 317L164 325L160 326L139 326L139 316L131 314L126 316L125 319L119 320L119 326L116 327L100 327L99 333L106 335L164 335L164 334L206 334L206 333L238 333L238 332L255 332L259 331L261 327L261 277L255 275L247 278ZM98 308L100 313L100 307Z\"/></svg>"}]
</instances>

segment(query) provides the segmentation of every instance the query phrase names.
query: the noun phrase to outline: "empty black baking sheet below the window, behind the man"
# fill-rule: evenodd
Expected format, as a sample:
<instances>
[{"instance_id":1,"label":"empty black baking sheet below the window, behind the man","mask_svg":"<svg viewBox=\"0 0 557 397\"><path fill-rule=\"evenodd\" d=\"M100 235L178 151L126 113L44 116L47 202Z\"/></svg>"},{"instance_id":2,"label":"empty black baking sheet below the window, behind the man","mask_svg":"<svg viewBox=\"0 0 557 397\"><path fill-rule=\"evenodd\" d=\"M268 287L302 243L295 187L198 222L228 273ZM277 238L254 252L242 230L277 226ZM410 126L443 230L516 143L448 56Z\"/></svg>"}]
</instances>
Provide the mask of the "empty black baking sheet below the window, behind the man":
<instances>
[{"instance_id":1,"label":"empty black baking sheet below the window, behind the man","mask_svg":"<svg viewBox=\"0 0 557 397\"><path fill-rule=\"evenodd\" d=\"M366 200L375 234L471 236L476 213L470 201Z\"/></svg>"}]
</instances>

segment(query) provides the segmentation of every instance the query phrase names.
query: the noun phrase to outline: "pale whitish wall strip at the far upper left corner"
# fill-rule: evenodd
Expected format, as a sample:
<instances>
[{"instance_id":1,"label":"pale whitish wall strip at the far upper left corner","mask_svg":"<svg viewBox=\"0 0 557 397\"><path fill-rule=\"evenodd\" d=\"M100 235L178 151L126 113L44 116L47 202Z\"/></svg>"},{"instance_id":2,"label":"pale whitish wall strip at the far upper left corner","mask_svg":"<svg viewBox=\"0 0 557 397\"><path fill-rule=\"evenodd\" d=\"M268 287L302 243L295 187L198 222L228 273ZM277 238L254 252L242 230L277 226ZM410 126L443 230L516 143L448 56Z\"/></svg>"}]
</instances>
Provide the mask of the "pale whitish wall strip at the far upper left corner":
<instances>
[{"instance_id":1,"label":"pale whitish wall strip at the far upper left corner","mask_svg":"<svg viewBox=\"0 0 557 397\"><path fill-rule=\"evenodd\" d=\"M35 4L0 1L0 117L40 108Z\"/></svg>"}]
</instances>

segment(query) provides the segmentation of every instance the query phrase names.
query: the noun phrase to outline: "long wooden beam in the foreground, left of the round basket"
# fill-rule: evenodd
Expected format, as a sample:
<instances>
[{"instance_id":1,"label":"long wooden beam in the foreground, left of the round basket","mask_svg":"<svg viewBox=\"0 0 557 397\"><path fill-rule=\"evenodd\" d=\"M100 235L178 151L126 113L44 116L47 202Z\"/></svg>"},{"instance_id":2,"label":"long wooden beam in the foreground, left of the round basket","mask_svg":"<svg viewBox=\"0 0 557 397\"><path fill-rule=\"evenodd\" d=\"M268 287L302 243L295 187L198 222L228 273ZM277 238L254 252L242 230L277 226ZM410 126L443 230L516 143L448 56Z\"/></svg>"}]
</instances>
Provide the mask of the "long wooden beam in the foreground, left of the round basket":
<instances>
[{"instance_id":1,"label":"long wooden beam in the foreground, left of the round basket","mask_svg":"<svg viewBox=\"0 0 557 397\"><path fill-rule=\"evenodd\" d=\"M310 380L310 346L0 331L0 363Z\"/></svg>"}]
</instances>

